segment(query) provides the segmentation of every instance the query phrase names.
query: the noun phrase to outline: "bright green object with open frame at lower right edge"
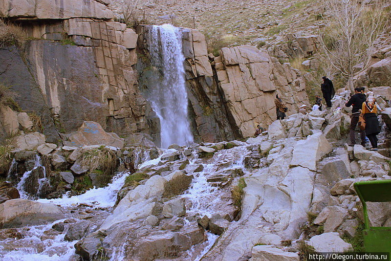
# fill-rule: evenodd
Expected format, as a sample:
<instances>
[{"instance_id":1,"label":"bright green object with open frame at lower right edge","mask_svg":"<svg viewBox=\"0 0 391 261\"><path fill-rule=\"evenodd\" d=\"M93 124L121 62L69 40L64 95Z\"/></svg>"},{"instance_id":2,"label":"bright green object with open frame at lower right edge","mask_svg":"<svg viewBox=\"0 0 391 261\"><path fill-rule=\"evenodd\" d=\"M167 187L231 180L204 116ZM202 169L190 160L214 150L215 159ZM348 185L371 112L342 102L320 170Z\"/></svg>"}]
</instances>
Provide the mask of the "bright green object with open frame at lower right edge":
<instances>
[{"instance_id":1,"label":"bright green object with open frame at lower right edge","mask_svg":"<svg viewBox=\"0 0 391 261\"><path fill-rule=\"evenodd\" d=\"M364 247L367 252L391 252L391 227L371 227L366 202L390 202L391 179L354 183L354 189L363 204Z\"/></svg>"}]
</instances>

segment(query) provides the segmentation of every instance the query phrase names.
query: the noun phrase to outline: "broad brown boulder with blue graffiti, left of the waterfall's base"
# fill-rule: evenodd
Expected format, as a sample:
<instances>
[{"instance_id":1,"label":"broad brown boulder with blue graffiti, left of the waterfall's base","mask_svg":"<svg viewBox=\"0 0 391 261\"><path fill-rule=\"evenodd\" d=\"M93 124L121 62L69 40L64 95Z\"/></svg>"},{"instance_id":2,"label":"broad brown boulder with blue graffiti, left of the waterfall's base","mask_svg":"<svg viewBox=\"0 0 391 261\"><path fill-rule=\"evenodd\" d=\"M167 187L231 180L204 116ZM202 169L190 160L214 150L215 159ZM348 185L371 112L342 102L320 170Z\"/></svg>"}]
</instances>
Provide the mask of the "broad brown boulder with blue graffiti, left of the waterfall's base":
<instances>
[{"instance_id":1,"label":"broad brown boulder with blue graffiti, left of the waterfall's base","mask_svg":"<svg viewBox=\"0 0 391 261\"><path fill-rule=\"evenodd\" d=\"M83 122L80 128L69 134L68 146L107 145L122 149L125 140L116 133L106 132L99 123L93 121Z\"/></svg>"}]
</instances>

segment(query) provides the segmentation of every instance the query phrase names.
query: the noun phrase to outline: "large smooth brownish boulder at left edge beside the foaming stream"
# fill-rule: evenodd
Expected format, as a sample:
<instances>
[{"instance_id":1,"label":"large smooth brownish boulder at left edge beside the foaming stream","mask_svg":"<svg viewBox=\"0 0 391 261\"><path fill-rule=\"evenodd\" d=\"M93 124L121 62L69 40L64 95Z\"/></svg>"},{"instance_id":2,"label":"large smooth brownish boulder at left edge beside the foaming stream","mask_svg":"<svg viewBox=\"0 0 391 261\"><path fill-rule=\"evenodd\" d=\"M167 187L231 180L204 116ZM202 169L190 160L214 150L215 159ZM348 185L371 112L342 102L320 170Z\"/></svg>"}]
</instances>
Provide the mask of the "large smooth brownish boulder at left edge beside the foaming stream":
<instances>
[{"instance_id":1,"label":"large smooth brownish boulder at left edge beside the foaming stream","mask_svg":"<svg viewBox=\"0 0 391 261\"><path fill-rule=\"evenodd\" d=\"M23 227L41 225L65 218L55 204L28 199L10 199L0 204L0 227Z\"/></svg>"}]
</instances>

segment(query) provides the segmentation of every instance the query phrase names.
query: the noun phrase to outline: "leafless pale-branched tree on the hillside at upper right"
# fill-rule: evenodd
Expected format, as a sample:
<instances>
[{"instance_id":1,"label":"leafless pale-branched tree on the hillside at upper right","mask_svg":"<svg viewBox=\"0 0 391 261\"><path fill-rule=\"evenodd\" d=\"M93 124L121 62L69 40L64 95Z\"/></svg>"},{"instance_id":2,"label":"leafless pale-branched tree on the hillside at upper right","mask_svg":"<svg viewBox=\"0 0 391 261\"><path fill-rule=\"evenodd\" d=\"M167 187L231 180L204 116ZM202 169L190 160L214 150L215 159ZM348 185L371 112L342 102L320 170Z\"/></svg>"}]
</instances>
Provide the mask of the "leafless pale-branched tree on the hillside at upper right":
<instances>
[{"instance_id":1,"label":"leafless pale-branched tree on the hillside at upper right","mask_svg":"<svg viewBox=\"0 0 391 261\"><path fill-rule=\"evenodd\" d=\"M357 67L369 65L374 42L388 23L386 0L325 0L327 22L320 31L321 49L326 63L340 72L352 89ZM330 68L329 68L330 69ZM330 70L331 71L331 70Z\"/></svg>"}]
</instances>

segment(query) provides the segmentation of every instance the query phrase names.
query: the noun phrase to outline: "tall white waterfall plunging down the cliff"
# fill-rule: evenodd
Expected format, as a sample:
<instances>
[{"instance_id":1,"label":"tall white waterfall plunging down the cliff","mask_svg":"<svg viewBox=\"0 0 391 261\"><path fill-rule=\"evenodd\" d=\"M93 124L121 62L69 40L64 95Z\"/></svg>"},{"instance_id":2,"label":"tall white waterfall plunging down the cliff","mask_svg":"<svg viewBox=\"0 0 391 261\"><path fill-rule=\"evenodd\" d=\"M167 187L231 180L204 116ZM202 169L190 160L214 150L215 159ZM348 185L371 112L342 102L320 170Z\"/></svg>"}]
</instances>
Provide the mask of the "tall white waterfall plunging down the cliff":
<instances>
[{"instance_id":1,"label":"tall white waterfall plunging down the cliff","mask_svg":"<svg viewBox=\"0 0 391 261\"><path fill-rule=\"evenodd\" d=\"M153 70L147 100L160 119L161 146L190 145L193 135L187 118L182 32L171 24L155 25L149 36L151 64L159 69Z\"/></svg>"}]
</instances>

